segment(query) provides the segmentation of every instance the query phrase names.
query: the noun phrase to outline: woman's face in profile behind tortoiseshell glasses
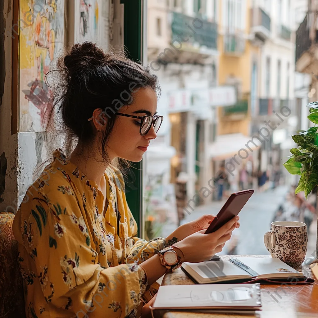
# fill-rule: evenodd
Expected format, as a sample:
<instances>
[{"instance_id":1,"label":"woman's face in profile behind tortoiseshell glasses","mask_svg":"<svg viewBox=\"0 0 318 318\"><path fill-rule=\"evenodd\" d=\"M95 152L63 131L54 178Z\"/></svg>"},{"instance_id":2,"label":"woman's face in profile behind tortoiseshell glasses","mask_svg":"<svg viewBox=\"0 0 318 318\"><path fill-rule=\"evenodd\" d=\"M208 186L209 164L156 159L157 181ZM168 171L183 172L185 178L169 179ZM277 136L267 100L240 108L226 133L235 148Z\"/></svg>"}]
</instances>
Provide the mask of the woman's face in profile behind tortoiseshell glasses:
<instances>
[{"instance_id":1,"label":"woman's face in profile behind tortoiseshell glasses","mask_svg":"<svg viewBox=\"0 0 318 318\"><path fill-rule=\"evenodd\" d=\"M123 106L119 113L135 116L155 115L157 112L157 94L150 87L140 88L134 94L133 103ZM110 158L120 157L133 162L142 160L149 142L156 138L153 125L149 132L140 135L140 119L116 115L114 128L107 142L107 153Z\"/></svg>"}]
</instances>

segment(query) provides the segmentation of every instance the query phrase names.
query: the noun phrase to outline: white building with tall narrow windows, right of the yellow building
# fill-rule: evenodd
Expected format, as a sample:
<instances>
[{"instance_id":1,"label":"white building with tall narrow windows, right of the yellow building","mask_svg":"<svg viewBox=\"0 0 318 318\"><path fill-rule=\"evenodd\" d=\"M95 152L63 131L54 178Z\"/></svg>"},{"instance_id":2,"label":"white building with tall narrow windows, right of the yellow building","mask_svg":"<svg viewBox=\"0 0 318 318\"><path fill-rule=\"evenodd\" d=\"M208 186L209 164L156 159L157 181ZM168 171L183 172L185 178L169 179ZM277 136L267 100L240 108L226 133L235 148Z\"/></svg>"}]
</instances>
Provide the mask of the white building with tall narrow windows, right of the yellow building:
<instances>
[{"instance_id":1,"label":"white building with tall narrow windows, right of the yellow building","mask_svg":"<svg viewBox=\"0 0 318 318\"><path fill-rule=\"evenodd\" d=\"M264 44L260 58L260 98L252 129L255 132L264 126L264 120L277 123L275 112L280 114L287 110L286 107L290 109L288 118L273 131L271 142L261 150L261 170L276 166L284 171L281 163L286 161L285 157L294 144L290 135L299 125L295 106L295 31L300 14L299 1L254 0L253 5L261 8L268 26L257 31Z\"/></svg>"}]
</instances>

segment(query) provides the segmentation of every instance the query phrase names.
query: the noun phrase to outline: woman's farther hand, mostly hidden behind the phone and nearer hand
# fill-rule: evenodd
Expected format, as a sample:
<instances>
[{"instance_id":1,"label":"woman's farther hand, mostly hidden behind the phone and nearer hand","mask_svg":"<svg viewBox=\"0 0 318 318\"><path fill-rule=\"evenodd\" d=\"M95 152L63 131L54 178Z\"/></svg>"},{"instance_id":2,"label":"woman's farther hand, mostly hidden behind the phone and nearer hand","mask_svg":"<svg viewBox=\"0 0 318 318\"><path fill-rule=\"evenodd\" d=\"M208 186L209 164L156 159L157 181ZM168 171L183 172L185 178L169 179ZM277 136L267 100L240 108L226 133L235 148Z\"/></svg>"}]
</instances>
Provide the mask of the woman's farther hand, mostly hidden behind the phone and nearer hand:
<instances>
[{"instance_id":1,"label":"woman's farther hand, mostly hidden behind the phone and nearer hand","mask_svg":"<svg viewBox=\"0 0 318 318\"><path fill-rule=\"evenodd\" d=\"M207 229L214 218L215 215L213 214L204 214L196 220L180 225L166 238L166 241L173 237L176 237L178 241L181 241L195 232Z\"/></svg>"}]
</instances>

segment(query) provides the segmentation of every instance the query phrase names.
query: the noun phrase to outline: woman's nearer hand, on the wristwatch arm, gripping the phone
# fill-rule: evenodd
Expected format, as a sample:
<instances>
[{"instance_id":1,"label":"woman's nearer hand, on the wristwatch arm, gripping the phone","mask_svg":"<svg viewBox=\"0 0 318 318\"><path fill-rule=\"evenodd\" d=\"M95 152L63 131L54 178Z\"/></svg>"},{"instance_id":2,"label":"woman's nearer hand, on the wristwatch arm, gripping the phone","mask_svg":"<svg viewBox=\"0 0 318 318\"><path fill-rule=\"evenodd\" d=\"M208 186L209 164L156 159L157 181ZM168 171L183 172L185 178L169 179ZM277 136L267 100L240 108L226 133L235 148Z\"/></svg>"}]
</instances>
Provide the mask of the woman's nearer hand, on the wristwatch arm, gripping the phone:
<instances>
[{"instance_id":1,"label":"woman's nearer hand, on the wristwatch arm, gripping the phone","mask_svg":"<svg viewBox=\"0 0 318 318\"><path fill-rule=\"evenodd\" d=\"M239 217L232 218L229 222L225 223L217 231L204 234L205 229L195 232L183 240L172 245L179 247L184 257L180 255L181 260L184 262L198 263L204 260L209 260L218 252L221 252L225 242L231 238L232 231L239 227Z\"/></svg>"}]
</instances>

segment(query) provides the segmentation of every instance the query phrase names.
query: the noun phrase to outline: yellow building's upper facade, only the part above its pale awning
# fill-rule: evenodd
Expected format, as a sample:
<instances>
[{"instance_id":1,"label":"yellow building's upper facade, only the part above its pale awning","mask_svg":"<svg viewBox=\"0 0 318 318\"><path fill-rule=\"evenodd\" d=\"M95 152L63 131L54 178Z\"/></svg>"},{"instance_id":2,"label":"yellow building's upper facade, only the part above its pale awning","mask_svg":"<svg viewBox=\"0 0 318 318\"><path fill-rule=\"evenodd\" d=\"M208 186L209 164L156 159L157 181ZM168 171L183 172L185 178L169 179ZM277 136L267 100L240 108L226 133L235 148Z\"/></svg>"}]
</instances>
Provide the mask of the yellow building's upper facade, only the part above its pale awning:
<instances>
[{"instance_id":1,"label":"yellow building's upper facade, only the part above its pale awning","mask_svg":"<svg viewBox=\"0 0 318 318\"><path fill-rule=\"evenodd\" d=\"M218 81L220 85L235 85L238 102L233 107L219 107L218 135L250 134L251 104L257 97L252 78L257 83L260 57L259 41L250 40L252 13L252 0L220 2Z\"/></svg>"}]
</instances>

